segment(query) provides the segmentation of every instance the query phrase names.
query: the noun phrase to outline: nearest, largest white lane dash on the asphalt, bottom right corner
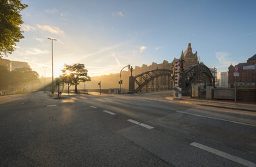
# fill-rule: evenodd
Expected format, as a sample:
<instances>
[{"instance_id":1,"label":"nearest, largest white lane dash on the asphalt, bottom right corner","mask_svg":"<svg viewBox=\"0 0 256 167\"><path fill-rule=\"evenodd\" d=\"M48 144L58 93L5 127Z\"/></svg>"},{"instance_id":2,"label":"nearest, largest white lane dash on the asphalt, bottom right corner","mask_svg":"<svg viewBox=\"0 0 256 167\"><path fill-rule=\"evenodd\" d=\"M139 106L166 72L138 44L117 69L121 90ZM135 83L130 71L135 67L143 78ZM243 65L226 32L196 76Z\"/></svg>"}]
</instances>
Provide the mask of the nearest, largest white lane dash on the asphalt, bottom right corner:
<instances>
[{"instance_id":1,"label":"nearest, largest white lane dash on the asphalt, bottom right corner","mask_svg":"<svg viewBox=\"0 0 256 167\"><path fill-rule=\"evenodd\" d=\"M202 144L200 144L200 143L193 142L193 143L190 143L190 145L193 145L194 147L198 147L198 148L200 148L200 149L203 149L203 150L205 150L205 151L207 151L207 152L211 152L212 154L215 154L215 155L217 155L217 156L221 156L221 157L226 158L226 159L228 159L228 160L232 160L232 161L237 162L237 163L239 163L239 164L242 164L242 165L244 165L244 166L249 166L249 167L255 167L255 166L256 166L256 164L253 163L253 162L244 160L244 159L239 158L239 157L237 157L237 156L233 156L233 155L228 154L228 153L226 153L226 152L221 152L221 151L219 151L219 150L217 150L217 149L208 147L208 146L206 146L206 145L202 145Z\"/></svg>"}]
</instances>

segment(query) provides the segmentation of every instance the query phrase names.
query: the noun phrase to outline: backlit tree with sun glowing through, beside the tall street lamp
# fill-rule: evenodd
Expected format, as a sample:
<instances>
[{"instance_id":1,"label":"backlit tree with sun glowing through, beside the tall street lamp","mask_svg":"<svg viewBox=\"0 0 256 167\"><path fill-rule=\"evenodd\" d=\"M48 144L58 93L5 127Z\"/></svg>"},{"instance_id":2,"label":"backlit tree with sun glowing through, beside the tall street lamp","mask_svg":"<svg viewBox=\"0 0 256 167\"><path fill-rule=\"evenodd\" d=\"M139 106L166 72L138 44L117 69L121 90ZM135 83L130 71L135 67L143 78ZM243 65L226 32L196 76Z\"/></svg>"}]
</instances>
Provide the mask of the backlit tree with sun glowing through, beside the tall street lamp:
<instances>
[{"instance_id":1,"label":"backlit tree with sun glowing through, beside the tall street lamp","mask_svg":"<svg viewBox=\"0 0 256 167\"><path fill-rule=\"evenodd\" d=\"M84 64L76 63L73 65L64 65L62 72L64 75L68 75L68 79L74 83L74 92L77 93L77 85L80 82L91 81L91 78L88 75L87 69L85 69Z\"/></svg>"}]
</instances>

